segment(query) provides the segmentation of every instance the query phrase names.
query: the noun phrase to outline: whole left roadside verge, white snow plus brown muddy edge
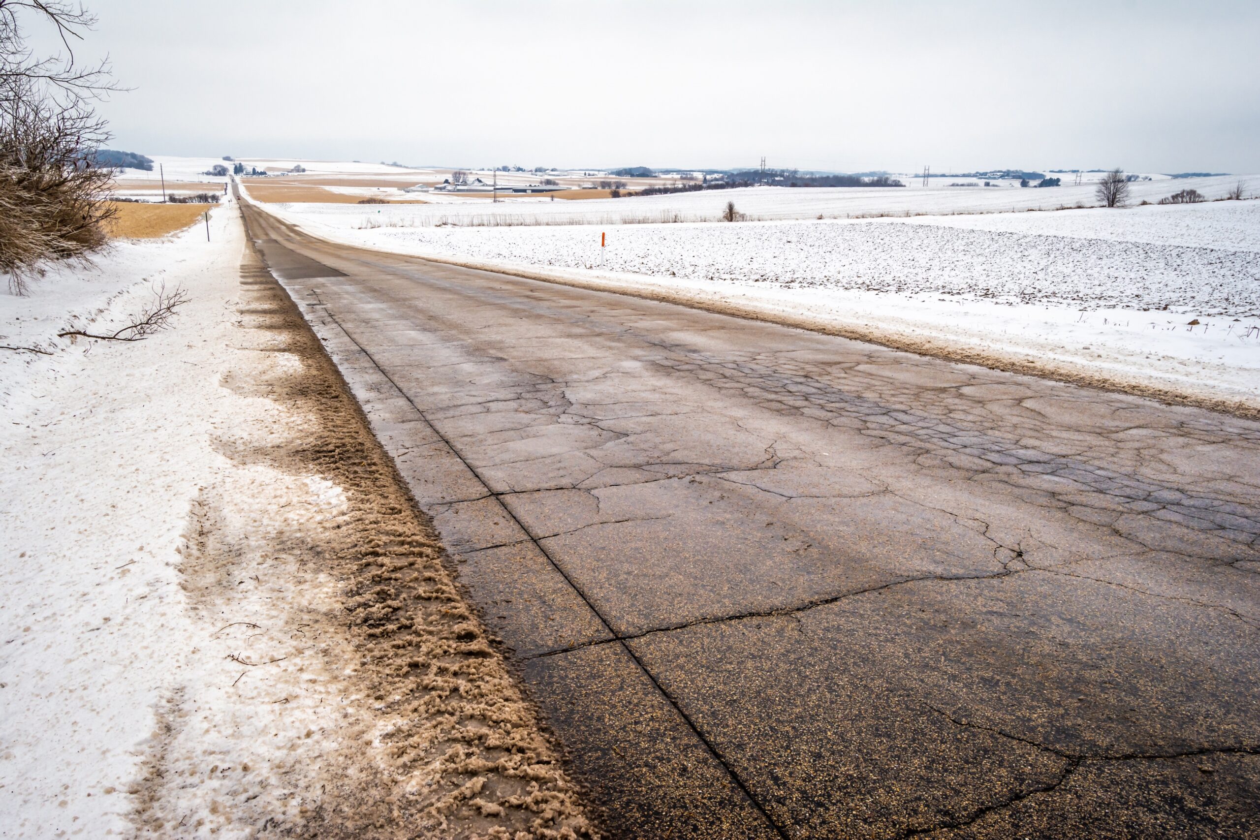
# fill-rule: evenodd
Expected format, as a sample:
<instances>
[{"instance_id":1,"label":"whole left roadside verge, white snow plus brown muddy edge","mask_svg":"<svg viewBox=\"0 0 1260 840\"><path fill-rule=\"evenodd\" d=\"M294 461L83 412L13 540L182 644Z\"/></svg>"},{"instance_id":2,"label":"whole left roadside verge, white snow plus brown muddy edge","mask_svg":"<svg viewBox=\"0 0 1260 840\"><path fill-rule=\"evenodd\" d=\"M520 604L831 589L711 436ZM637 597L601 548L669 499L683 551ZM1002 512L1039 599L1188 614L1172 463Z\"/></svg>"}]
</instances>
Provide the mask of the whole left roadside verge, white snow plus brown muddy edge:
<instances>
[{"instance_id":1,"label":"whole left roadside verge, white snow plus brown muddy edge","mask_svg":"<svg viewBox=\"0 0 1260 840\"><path fill-rule=\"evenodd\" d=\"M229 199L210 242L122 242L0 295L3 343L40 350L0 351L0 836L588 837L431 531L249 254ZM190 295L171 329L55 336L111 334L161 283ZM530 783L547 815L513 800Z\"/></svg>"}]
</instances>

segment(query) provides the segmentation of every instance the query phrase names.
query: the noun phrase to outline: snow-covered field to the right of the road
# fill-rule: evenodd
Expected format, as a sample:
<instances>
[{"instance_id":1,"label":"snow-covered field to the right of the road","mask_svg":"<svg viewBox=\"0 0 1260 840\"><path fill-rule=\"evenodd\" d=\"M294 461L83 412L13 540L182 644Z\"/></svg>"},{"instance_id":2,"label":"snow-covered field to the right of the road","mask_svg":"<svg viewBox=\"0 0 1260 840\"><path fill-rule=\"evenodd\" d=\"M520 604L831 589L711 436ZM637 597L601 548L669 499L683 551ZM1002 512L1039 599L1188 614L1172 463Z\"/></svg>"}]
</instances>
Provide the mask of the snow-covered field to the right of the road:
<instances>
[{"instance_id":1,"label":"snow-covered field to the right of the road","mask_svg":"<svg viewBox=\"0 0 1260 840\"><path fill-rule=\"evenodd\" d=\"M1157 184L1167 194L1171 185L1181 189L1192 180L1134 186ZM1217 180L1223 191L1237 179ZM1208 184L1201 180L1198 189ZM790 213L785 201L874 191L746 194L772 196L780 212ZM662 198L693 200L697 194ZM606 203L567 204L581 210ZM954 213L963 205L946 207ZM388 227L418 210L450 212L446 207L386 207L379 214L355 205L265 209L334 241L708 306L735 305L746 314L998 366L1260 408L1255 200L593 227Z\"/></svg>"}]
</instances>

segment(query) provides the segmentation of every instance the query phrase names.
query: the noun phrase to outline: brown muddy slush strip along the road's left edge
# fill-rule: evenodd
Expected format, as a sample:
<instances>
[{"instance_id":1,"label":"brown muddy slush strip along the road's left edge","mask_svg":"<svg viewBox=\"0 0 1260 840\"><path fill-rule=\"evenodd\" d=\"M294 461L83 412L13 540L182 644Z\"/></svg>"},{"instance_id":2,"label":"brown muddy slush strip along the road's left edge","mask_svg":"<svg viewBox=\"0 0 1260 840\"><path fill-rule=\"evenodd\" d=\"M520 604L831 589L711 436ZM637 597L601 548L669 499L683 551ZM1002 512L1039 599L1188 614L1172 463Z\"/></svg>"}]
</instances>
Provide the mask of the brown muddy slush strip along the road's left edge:
<instances>
[{"instance_id":1,"label":"brown muddy slush strip along the road's left edge","mask_svg":"<svg viewBox=\"0 0 1260 840\"><path fill-rule=\"evenodd\" d=\"M203 489L185 533L184 587L194 610L227 625L244 612L255 574L261 570L261 581L253 577L261 584L278 579L273 592L291 602L278 607L275 623L282 627L244 632L281 630L275 655L292 659L271 665L270 654L244 652L241 670L262 680L291 669L287 683L273 678L271 690L284 699L260 699L258 714L306 710L324 714L325 727L305 738L299 727L287 753L261 753L266 758L256 758L256 739L224 733L229 746L200 782L219 786L205 793L210 814L181 817L188 807L175 803L193 781L181 776L205 771L176 758L181 752L173 744L185 727L214 724L205 723L213 710L204 701L171 698L159 710L144 780L132 791L140 832L178 835L178 822L199 834L231 811L234 827L261 836L596 837L536 710L444 564L431 525L340 373L252 249L238 311L249 350L287 354L299 364L276 365L266 377L227 377L224 387L275 400L295 419L232 428L217 448L243 471L266 468L284 479L263 504L266 494L242 501L228 485ZM336 487L339 501L304 518L292 500L281 504L278 485L312 476ZM312 659L295 665L302 655ZM331 686L324 712L304 709L296 694L316 681ZM294 705L273 705L290 696ZM270 763L258 776L262 761Z\"/></svg>"}]
</instances>

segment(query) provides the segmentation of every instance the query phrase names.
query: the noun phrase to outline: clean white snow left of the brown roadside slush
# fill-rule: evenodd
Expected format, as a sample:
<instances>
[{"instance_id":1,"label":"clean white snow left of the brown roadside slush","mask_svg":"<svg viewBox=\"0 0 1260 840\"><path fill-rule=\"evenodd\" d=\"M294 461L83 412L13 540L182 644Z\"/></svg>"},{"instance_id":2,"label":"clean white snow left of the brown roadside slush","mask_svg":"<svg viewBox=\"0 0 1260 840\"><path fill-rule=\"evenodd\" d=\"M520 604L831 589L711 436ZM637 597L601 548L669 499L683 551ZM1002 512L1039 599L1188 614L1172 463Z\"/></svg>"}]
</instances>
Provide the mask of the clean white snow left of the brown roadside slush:
<instances>
[{"instance_id":1,"label":"clean white snow left of the brown roadside slush","mask_svg":"<svg viewBox=\"0 0 1260 840\"><path fill-rule=\"evenodd\" d=\"M217 209L209 243L200 229L123 242L94 268L58 268L25 297L0 296L4 344L53 353L0 354L6 837L127 834L127 791L171 674L208 705L236 676L210 661L222 642L181 608L176 552L198 486L226 463L209 442L215 426L267 411L224 402L219 387L238 356L224 306L238 228ZM67 324L125 325L151 282L193 291L174 330L131 344L55 339ZM292 727L284 732L287 746Z\"/></svg>"}]
</instances>

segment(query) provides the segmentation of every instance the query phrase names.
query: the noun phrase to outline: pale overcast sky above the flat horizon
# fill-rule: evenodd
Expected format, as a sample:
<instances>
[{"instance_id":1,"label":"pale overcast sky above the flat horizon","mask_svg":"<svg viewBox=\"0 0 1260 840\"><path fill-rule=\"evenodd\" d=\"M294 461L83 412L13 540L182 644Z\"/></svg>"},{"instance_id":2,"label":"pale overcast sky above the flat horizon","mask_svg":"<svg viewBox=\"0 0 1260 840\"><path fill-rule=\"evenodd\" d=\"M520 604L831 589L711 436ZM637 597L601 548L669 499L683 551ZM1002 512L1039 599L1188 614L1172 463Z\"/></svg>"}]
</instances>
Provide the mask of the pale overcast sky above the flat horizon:
<instances>
[{"instance_id":1,"label":"pale overcast sky above the flat horizon","mask_svg":"<svg viewBox=\"0 0 1260 840\"><path fill-rule=\"evenodd\" d=\"M86 0L127 151L1260 173L1260 1Z\"/></svg>"}]
</instances>

